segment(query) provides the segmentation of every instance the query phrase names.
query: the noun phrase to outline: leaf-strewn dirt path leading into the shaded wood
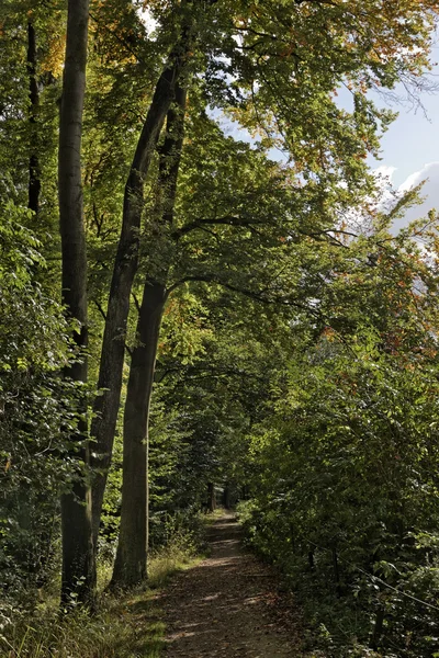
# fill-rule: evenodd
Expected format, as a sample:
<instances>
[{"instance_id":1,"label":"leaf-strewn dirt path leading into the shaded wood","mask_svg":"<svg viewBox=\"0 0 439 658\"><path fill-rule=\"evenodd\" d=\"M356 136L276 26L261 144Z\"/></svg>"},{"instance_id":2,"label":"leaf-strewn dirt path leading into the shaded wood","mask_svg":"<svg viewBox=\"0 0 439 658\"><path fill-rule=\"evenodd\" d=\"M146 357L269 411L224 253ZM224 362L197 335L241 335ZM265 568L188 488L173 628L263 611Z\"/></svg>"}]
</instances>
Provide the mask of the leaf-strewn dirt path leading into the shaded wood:
<instances>
[{"instance_id":1,"label":"leaf-strewn dirt path leading into the shaded wood","mask_svg":"<svg viewBox=\"0 0 439 658\"><path fill-rule=\"evenodd\" d=\"M160 601L167 658L295 658L302 628L275 591L271 569L241 546L225 514L209 529L211 556L179 574Z\"/></svg>"}]
</instances>

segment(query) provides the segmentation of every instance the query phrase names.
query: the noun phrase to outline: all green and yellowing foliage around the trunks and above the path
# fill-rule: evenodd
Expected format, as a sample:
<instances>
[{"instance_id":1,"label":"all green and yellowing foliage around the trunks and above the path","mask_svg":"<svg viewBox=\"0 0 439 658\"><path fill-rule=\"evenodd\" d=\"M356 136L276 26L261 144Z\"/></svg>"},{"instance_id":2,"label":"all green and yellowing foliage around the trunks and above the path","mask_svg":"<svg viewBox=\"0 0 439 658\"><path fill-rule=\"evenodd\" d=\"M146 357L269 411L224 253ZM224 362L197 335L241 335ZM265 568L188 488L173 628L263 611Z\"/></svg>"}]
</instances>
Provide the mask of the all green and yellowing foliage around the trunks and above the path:
<instances>
[{"instance_id":1,"label":"all green and yellowing foliage around the trunks and above the path","mask_svg":"<svg viewBox=\"0 0 439 658\"><path fill-rule=\"evenodd\" d=\"M65 3L49 4L0 7L0 570L7 597L30 608L24 585L34 591L58 568L57 499L78 476L69 436L87 395L60 376L80 355L56 302ZM438 605L437 245L427 237L420 253L409 232L387 234L416 191L389 216L378 212L365 160L393 117L368 92L398 80L421 86L437 3L151 1L154 33L144 8L92 2L82 155L95 382L126 174L155 83L181 25L190 25L173 220L156 217L155 154L134 291L166 271L151 545L167 545L164 563L173 564L181 546L170 541L184 544L188 527L198 534L207 485L228 483L243 497L250 491L252 542L311 602L329 651L341 656L340 643L350 643L350 655L361 655L369 642L389 656L427 655L439 635L426 605ZM33 109L29 24L37 39ZM341 86L350 107L337 101ZM254 141L227 136L224 117ZM282 163L271 160L272 147ZM24 207L32 156L42 182L37 217ZM369 222L357 238L352 208ZM121 328L128 349L136 313L133 304ZM110 557L121 468L117 440L103 517ZM47 642L64 650L56 629L45 628ZM27 640L46 643L26 633L23 651ZM102 655L122 655L105 642ZM69 643L65 653L91 650L91 640ZM52 650L44 646L35 650Z\"/></svg>"}]
</instances>

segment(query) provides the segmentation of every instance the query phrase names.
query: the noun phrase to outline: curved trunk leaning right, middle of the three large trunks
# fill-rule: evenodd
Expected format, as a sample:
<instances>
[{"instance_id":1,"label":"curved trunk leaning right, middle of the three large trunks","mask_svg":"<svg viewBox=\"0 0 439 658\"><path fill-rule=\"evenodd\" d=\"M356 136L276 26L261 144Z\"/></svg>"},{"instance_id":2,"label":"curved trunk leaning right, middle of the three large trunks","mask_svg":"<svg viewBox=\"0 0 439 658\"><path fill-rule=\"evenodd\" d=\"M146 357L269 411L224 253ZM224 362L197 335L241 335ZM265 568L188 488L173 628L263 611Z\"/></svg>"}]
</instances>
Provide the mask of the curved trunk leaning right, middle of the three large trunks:
<instances>
[{"instance_id":1,"label":"curved trunk leaning right, middle of the three large trunks","mask_svg":"<svg viewBox=\"0 0 439 658\"><path fill-rule=\"evenodd\" d=\"M94 440L92 464L93 468L98 469L92 490L94 540L99 532L121 399L130 295L137 270L144 181L166 115L175 99L176 84L184 68L189 49L190 29L187 27L170 55L170 64L157 82L125 186L122 232L111 282L98 381L98 388L103 393L95 398L91 426Z\"/></svg>"}]
</instances>

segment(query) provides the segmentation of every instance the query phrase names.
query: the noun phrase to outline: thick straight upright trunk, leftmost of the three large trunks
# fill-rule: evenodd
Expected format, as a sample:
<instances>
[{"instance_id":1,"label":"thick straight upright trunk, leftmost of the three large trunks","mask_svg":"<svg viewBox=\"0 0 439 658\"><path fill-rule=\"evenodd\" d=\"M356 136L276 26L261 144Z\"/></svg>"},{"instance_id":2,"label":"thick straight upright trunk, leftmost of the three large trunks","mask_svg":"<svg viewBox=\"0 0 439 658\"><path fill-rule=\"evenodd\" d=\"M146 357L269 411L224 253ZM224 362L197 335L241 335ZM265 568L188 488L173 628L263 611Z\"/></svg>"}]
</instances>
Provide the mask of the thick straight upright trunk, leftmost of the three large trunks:
<instances>
[{"instance_id":1,"label":"thick straight upright trunk, leftmost of the three large trunks","mask_svg":"<svg viewBox=\"0 0 439 658\"><path fill-rule=\"evenodd\" d=\"M75 341L87 349L87 253L83 228L81 134L86 91L89 0L69 0L66 60L59 123L58 190L63 256L63 302L67 316L78 324ZM65 372L75 382L87 382L85 353ZM87 402L81 402L87 413ZM72 457L88 463L87 422L78 434ZM94 552L91 532L91 491L78 468L72 491L61 497L61 603L91 603L94 593Z\"/></svg>"}]
</instances>

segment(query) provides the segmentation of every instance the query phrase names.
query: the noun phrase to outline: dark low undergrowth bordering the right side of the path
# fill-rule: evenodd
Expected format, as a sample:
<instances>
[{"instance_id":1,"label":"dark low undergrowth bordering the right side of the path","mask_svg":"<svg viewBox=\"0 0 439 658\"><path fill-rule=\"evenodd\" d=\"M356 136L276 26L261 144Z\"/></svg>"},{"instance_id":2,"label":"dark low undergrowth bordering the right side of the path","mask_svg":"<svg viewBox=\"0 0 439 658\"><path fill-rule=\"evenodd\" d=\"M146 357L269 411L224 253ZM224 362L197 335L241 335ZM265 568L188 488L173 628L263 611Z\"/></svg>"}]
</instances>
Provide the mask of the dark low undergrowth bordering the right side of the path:
<instances>
[{"instance_id":1,"label":"dark low undergrowth bordering the right side of the path","mask_svg":"<svg viewBox=\"0 0 439 658\"><path fill-rule=\"evenodd\" d=\"M314 546L307 555L295 552L279 515L268 523L269 515L252 501L238 506L238 518L246 543L274 565L283 587L294 592L305 621L304 649L313 650L313 658L439 658L437 617L431 613L437 606L427 601L429 592L438 591L439 569L432 558L427 567L414 569L404 587L390 589L383 577L364 569L358 575L350 563L349 570L342 556L336 571L327 551Z\"/></svg>"}]
</instances>

